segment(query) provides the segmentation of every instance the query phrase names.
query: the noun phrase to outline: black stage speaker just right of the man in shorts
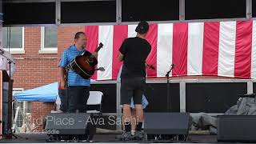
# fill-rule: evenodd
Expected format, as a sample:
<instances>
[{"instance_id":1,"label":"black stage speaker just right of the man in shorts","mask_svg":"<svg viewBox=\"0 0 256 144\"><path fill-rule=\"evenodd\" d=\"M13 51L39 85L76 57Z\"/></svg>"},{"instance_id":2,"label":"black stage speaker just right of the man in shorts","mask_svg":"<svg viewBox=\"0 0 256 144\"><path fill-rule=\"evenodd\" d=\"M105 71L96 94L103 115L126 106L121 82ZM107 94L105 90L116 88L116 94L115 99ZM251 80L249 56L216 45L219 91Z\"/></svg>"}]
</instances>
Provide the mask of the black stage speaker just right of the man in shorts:
<instances>
[{"instance_id":1,"label":"black stage speaker just right of the man in shorts","mask_svg":"<svg viewBox=\"0 0 256 144\"><path fill-rule=\"evenodd\" d=\"M144 130L152 135L184 135L189 133L188 113L145 113Z\"/></svg>"}]
</instances>

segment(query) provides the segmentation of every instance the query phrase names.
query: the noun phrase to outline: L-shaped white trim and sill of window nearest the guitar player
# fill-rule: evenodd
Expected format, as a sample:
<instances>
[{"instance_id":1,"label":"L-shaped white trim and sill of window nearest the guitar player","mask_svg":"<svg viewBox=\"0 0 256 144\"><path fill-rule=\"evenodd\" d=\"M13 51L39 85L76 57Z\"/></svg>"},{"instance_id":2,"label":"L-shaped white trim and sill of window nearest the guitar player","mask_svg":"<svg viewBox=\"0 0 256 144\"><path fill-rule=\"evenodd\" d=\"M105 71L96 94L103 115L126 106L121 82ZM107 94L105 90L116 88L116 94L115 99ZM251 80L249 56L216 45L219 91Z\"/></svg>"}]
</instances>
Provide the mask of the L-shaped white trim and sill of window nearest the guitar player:
<instances>
[{"instance_id":1,"label":"L-shaped white trim and sill of window nearest the guitar player","mask_svg":"<svg viewBox=\"0 0 256 144\"><path fill-rule=\"evenodd\" d=\"M45 48L45 26L41 26L41 50L39 54L57 54L57 47L47 47Z\"/></svg>"}]
</instances>

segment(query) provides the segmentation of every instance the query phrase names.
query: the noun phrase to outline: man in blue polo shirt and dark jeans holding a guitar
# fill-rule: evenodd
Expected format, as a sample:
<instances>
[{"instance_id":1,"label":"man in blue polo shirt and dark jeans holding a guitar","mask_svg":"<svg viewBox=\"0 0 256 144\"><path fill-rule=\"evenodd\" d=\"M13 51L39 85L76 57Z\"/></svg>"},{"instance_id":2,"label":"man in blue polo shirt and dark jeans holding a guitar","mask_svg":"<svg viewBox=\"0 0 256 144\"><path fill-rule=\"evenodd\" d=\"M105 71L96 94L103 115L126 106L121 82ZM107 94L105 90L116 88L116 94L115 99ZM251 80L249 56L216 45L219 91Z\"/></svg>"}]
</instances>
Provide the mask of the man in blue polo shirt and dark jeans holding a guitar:
<instances>
[{"instance_id":1,"label":"man in blue polo shirt and dark jeans holding a guitar","mask_svg":"<svg viewBox=\"0 0 256 144\"><path fill-rule=\"evenodd\" d=\"M62 89L66 89L66 66L73 61L75 57L81 55L85 52L85 47L87 43L86 34L84 32L78 32L74 36L74 45L66 49L63 54L61 61L59 62L59 74L60 74L60 84ZM93 53L97 56L97 53ZM85 113L86 112L86 102L90 94L90 78L84 79L79 74L75 73L73 70L69 70L67 74L67 86L68 86L68 113Z\"/></svg>"}]
</instances>

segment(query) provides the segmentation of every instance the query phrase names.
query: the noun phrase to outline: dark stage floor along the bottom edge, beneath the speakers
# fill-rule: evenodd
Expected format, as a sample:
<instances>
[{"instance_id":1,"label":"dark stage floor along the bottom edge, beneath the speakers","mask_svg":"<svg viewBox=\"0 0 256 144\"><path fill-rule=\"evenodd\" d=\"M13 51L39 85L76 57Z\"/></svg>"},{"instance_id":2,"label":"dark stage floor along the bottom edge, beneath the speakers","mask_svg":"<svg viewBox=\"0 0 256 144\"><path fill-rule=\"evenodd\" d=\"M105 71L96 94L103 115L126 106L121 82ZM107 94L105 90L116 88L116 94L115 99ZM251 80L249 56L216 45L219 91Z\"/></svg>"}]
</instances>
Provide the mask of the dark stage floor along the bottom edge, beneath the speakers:
<instances>
[{"instance_id":1,"label":"dark stage floor along the bottom edge, beneath the speakers","mask_svg":"<svg viewBox=\"0 0 256 144\"><path fill-rule=\"evenodd\" d=\"M0 140L2 143L38 143L46 142L49 137L46 134L16 134L18 138ZM122 143L115 137L117 134L96 134L94 135L93 143ZM139 143L138 141L130 141L132 143ZM140 143L151 143L154 141L140 142ZM164 142L164 141L163 141ZM58 143L58 142L47 142L47 143ZM63 143L63 142L59 142ZM73 143L73 142L69 142ZM80 142L74 142L80 143ZM127 142L125 142L127 143ZM217 135L190 135L186 142L171 142L171 143L217 143Z\"/></svg>"}]
</instances>

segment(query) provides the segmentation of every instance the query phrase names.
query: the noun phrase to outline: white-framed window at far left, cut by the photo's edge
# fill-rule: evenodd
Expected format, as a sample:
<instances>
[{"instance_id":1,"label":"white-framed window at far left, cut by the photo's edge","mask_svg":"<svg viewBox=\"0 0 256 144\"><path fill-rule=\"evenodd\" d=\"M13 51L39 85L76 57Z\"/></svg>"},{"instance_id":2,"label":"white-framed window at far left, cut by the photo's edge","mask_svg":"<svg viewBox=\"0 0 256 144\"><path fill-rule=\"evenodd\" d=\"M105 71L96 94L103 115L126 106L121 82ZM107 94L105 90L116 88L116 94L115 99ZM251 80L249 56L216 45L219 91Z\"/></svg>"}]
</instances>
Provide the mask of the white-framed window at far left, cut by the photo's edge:
<instances>
[{"instance_id":1,"label":"white-framed window at far left, cut by the photo's edge","mask_svg":"<svg viewBox=\"0 0 256 144\"><path fill-rule=\"evenodd\" d=\"M2 27L2 47L10 52L24 51L24 27Z\"/></svg>"}]
</instances>

